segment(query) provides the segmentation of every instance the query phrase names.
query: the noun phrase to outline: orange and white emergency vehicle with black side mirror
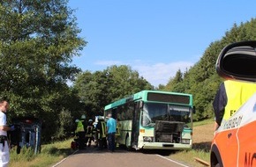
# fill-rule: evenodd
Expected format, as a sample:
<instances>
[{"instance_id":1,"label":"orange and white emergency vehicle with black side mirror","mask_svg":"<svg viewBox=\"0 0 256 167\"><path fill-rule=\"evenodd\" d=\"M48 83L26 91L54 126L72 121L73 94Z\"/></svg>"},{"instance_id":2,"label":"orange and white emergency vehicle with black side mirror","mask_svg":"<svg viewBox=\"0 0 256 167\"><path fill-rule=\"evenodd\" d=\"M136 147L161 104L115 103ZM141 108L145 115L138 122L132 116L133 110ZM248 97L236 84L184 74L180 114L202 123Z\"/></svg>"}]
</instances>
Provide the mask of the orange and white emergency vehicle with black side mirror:
<instances>
[{"instance_id":1,"label":"orange and white emergency vehicle with black side mirror","mask_svg":"<svg viewBox=\"0 0 256 167\"><path fill-rule=\"evenodd\" d=\"M232 49L232 51L230 50ZM256 41L242 41L222 49L216 62L219 76L256 82ZM256 83L255 83L256 86ZM215 131L210 165L256 166L256 94Z\"/></svg>"}]
</instances>

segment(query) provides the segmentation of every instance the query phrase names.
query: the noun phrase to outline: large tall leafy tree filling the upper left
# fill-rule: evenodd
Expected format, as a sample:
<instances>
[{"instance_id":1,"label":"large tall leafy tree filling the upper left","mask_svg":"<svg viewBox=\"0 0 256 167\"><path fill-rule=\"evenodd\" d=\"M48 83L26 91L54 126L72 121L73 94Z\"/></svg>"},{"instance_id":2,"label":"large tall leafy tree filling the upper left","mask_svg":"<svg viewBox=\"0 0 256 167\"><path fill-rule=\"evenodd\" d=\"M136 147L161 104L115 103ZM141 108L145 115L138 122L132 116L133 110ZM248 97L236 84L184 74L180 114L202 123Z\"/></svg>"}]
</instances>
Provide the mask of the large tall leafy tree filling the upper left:
<instances>
[{"instance_id":1,"label":"large tall leafy tree filling the upper left","mask_svg":"<svg viewBox=\"0 0 256 167\"><path fill-rule=\"evenodd\" d=\"M58 113L73 111L64 104L75 96L66 82L80 71L70 63L87 42L72 13L65 0L0 1L1 98L10 101L11 118L44 120L44 139L57 134Z\"/></svg>"}]
</instances>

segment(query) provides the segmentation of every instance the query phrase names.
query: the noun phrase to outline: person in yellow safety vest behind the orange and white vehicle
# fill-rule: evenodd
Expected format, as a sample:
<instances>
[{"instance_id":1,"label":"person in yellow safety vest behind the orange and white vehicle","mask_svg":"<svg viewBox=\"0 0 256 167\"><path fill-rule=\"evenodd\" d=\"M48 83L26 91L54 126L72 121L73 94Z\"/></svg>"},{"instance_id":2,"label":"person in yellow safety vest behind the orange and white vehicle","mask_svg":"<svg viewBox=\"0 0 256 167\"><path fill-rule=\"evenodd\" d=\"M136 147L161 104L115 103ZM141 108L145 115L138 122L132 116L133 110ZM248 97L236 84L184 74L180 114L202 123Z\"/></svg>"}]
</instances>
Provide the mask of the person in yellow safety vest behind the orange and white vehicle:
<instances>
[{"instance_id":1,"label":"person in yellow safety vest behind the orange and white vehicle","mask_svg":"<svg viewBox=\"0 0 256 167\"><path fill-rule=\"evenodd\" d=\"M215 130L224 124L241 105L256 92L256 84L226 80L221 84L213 102Z\"/></svg>"}]
</instances>

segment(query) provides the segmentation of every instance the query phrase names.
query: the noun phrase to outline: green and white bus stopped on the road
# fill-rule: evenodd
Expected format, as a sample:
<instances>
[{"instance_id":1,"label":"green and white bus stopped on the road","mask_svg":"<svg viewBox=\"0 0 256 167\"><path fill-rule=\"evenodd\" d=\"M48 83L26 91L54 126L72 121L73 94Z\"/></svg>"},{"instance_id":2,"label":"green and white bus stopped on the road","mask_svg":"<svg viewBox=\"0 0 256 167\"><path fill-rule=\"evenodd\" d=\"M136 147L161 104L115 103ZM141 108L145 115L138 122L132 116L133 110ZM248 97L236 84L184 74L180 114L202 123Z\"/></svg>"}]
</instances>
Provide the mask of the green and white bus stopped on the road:
<instances>
[{"instance_id":1,"label":"green and white bus stopped on the road","mask_svg":"<svg viewBox=\"0 0 256 167\"><path fill-rule=\"evenodd\" d=\"M127 149L191 149L192 95L139 91L105 106L120 128L117 144Z\"/></svg>"}]
</instances>

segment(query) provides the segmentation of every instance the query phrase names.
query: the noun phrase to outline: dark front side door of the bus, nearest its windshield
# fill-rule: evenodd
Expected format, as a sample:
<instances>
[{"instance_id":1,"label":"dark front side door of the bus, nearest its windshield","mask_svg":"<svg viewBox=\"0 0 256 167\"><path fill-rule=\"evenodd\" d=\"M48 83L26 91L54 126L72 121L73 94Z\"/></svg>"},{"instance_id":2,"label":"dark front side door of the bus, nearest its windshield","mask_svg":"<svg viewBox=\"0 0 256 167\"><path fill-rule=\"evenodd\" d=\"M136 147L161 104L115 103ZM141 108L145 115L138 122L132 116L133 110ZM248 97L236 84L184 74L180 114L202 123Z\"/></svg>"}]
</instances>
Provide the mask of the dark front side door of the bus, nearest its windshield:
<instances>
[{"instance_id":1,"label":"dark front side door of the bus, nearest its windshield","mask_svg":"<svg viewBox=\"0 0 256 167\"><path fill-rule=\"evenodd\" d=\"M139 111L140 111L140 104L141 102L132 103L134 105L134 109L132 111L132 137L131 143L132 148L138 147L138 140L139 140Z\"/></svg>"}]
</instances>

